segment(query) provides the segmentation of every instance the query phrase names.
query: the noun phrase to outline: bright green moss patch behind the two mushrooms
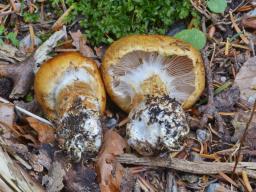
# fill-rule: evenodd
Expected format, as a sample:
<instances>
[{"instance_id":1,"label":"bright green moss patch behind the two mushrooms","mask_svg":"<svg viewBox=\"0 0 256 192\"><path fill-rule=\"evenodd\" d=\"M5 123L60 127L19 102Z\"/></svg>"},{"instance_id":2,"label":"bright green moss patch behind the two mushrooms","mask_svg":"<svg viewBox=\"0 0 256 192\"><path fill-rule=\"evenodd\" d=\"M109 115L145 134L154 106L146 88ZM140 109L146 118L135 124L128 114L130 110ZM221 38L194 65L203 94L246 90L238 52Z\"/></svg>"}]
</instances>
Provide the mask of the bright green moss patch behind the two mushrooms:
<instances>
[{"instance_id":1,"label":"bright green moss patch behind the two mushrooms","mask_svg":"<svg viewBox=\"0 0 256 192\"><path fill-rule=\"evenodd\" d=\"M56 6L60 0L52 0ZM165 34L176 20L191 16L189 0L68 0L75 9L67 22L80 26L93 45L109 44L128 34Z\"/></svg>"}]
</instances>

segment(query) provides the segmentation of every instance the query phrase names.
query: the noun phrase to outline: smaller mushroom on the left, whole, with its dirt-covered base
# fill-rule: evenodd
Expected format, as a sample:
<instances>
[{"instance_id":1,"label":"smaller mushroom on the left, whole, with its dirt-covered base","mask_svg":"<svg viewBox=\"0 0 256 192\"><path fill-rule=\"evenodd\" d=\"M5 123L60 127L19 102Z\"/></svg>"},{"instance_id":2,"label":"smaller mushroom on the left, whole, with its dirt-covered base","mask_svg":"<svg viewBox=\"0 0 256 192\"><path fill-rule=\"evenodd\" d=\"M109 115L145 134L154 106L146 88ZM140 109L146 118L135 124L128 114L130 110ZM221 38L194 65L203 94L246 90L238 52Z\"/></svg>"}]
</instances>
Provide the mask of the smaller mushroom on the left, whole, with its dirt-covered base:
<instances>
[{"instance_id":1,"label":"smaller mushroom on the left, whole, with its dirt-covered base","mask_svg":"<svg viewBox=\"0 0 256 192\"><path fill-rule=\"evenodd\" d=\"M62 148L75 161L83 153L94 155L102 143L106 104L97 64L76 52L59 54L41 66L34 87L44 113L57 125Z\"/></svg>"}]
</instances>

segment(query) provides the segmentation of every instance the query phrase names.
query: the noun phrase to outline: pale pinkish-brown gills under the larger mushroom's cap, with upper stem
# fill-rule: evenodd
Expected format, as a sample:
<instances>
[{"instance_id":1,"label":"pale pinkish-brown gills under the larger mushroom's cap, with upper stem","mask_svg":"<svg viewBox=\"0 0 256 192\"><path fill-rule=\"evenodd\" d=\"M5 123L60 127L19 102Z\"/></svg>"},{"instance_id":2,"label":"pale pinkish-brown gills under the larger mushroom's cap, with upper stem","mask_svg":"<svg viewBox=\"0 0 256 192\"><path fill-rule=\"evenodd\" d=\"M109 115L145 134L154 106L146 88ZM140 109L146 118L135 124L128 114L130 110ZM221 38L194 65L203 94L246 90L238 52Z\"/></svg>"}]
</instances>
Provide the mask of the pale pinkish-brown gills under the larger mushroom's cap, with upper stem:
<instances>
[{"instance_id":1,"label":"pale pinkish-brown gills under the larger mushroom's cap, with upper stem","mask_svg":"<svg viewBox=\"0 0 256 192\"><path fill-rule=\"evenodd\" d=\"M186 56L163 56L156 52L133 51L109 68L113 90L131 108L136 95L166 94L186 100L195 90L192 60Z\"/></svg>"}]
</instances>

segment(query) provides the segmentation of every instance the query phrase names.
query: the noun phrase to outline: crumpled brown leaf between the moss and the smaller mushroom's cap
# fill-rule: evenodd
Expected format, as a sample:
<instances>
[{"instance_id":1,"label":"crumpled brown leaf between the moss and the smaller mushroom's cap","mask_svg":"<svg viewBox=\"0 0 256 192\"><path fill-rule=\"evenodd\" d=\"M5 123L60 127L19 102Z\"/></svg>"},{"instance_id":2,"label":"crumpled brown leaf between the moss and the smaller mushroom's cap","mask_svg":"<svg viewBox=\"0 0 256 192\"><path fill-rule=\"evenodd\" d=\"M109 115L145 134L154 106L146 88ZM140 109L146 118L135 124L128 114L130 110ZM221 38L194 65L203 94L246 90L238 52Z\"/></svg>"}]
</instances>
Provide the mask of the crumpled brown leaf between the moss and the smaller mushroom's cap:
<instances>
[{"instance_id":1,"label":"crumpled brown leaf between the moss and the smaller mushroom's cap","mask_svg":"<svg viewBox=\"0 0 256 192\"><path fill-rule=\"evenodd\" d=\"M83 56L93 58L95 57L93 50L88 45L86 45L87 40L80 30L70 33L70 35L73 39L72 45L74 45Z\"/></svg>"}]
</instances>

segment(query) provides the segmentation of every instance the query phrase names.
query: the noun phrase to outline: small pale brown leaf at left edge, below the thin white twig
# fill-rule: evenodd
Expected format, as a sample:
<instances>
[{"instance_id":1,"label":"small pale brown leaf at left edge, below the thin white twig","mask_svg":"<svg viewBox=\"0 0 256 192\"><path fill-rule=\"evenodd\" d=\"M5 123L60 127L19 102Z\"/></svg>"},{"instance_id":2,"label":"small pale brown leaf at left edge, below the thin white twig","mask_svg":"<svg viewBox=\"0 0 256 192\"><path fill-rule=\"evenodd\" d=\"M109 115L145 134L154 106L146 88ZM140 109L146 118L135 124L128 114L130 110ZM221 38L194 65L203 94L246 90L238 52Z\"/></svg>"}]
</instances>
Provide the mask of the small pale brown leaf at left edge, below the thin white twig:
<instances>
[{"instance_id":1,"label":"small pale brown leaf at left edge, below the thin white twig","mask_svg":"<svg viewBox=\"0 0 256 192\"><path fill-rule=\"evenodd\" d=\"M14 105L0 103L0 126L12 129L14 117Z\"/></svg>"}]
</instances>

